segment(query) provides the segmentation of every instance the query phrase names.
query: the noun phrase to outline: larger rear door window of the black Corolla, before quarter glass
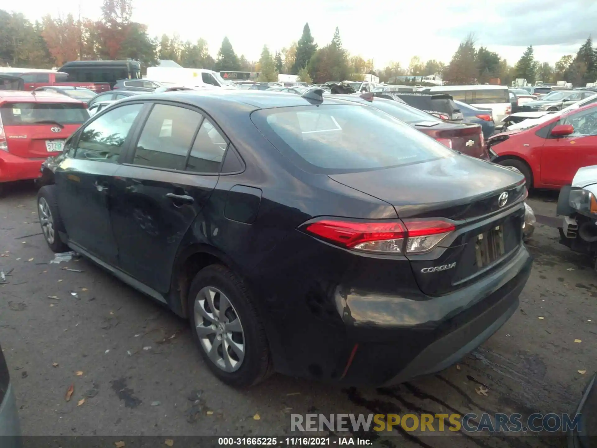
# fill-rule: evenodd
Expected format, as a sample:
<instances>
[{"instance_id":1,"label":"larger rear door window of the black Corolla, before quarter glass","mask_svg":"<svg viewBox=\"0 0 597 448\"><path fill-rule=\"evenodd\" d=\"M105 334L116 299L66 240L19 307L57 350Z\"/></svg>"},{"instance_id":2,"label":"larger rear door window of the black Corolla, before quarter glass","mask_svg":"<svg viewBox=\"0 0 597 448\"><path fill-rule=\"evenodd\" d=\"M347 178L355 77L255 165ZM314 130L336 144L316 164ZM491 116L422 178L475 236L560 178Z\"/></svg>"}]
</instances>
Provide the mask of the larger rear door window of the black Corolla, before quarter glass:
<instances>
[{"instance_id":1,"label":"larger rear door window of the black Corolla, before quarter glass","mask_svg":"<svg viewBox=\"0 0 597 448\"><path fill-rule=\"evenodd\" d=\"M141 131L133 163L147 167L184 170L184 161L201 122L200 113L157 104Z\"/></svg>"}]
</instances>

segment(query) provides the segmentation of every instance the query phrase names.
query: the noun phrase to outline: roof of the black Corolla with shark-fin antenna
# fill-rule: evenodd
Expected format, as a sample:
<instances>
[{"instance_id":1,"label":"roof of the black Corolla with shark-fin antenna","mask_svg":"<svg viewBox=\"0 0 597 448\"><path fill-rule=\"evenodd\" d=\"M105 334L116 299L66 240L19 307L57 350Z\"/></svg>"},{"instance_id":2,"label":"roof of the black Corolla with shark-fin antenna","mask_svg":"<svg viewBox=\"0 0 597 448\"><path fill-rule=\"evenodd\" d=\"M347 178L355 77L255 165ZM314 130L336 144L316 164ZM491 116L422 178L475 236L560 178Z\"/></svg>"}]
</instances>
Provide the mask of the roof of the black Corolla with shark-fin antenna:
<instances>
[{"instance_id":1,"label":"roof of the black Corolla with shark-fin antenna","mask_svg":"<svg viewBox=\"0 0 597 448\"><path fill-rule=\"evenodd\" d=\"M235 105L252 106L254 109L290 108L293 106L308 106L313 104L309 100L295 93L285 93L267 90L183 90L177 92L149 93L131 99L122 99L123 102L137 100L170 100L195 106L213 105L214 108L235 108ZM324 96L323 103L346 105L346 102Z\"/></svg>"}]
</instances>

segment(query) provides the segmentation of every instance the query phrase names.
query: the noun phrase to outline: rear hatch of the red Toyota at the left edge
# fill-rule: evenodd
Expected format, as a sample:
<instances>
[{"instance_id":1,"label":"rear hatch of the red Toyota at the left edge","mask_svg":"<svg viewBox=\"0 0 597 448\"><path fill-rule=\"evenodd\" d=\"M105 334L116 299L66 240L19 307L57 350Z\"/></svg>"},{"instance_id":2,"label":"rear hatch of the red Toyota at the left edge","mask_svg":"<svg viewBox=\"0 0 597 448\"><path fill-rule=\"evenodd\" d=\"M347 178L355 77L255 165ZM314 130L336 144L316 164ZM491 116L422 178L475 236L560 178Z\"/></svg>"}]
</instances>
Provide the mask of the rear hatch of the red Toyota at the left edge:
<instances>
[{"instance_id":1,"label":"rear hatch of the red Toyota at the left edge","mask_svg":"<svg viewBox=\"0 0 597 448\"><path fill-rule=\"evenodd\" d=\"M89 113L82 103L7 102L0 106L8 152L36 159L56 155Z\"/></svg>"}]
</instances>

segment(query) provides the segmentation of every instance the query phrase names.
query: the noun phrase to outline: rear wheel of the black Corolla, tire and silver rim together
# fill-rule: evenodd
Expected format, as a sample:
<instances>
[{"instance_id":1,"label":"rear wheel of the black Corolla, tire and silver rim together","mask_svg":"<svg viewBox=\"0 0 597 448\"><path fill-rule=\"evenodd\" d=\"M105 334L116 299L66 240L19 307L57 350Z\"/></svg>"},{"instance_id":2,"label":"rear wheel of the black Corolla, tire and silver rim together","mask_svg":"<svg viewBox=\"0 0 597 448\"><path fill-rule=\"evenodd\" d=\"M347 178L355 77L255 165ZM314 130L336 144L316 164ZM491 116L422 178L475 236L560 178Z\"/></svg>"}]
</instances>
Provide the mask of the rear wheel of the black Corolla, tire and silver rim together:
<instances>
[{"instance_id":1,"label":"rear wheel of the black Corolla, tire and silver rim together","mask_svg":"<svg viewBox=\"0 0 597 448\"><path fill-rule=\"evenodd\" d=\"M220 318L223 300L230 306L224 305L226 311ZM234 272L223 265L201 269L190 285L187 302L192 338L211 372L222 382L252 386L272 373L259 312L247 286Z\"/></svg>"}]
</instances>

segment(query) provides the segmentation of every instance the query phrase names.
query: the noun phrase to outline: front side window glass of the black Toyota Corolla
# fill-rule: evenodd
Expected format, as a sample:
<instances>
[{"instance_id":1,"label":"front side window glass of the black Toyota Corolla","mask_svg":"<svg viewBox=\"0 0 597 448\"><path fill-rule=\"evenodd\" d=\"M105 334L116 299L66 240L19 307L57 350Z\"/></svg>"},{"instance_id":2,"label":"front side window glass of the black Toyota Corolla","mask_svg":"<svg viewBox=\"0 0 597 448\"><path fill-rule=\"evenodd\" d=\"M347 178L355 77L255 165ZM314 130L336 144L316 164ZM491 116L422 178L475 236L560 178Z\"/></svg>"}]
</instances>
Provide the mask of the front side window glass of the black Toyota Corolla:
<instances>
[{"instance_id":1,"label":"front side window glass of the black Toyota Corolla","mask_svg":"<svg viewBox=\"0 0 597 448\"><path fill-rule=\"evenodd\" d=\"M88 124L79 137L75 158L118 163L122 145L141 108L142 104L121 106Z\"/></svg>"}]
</instances>

